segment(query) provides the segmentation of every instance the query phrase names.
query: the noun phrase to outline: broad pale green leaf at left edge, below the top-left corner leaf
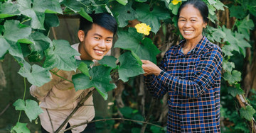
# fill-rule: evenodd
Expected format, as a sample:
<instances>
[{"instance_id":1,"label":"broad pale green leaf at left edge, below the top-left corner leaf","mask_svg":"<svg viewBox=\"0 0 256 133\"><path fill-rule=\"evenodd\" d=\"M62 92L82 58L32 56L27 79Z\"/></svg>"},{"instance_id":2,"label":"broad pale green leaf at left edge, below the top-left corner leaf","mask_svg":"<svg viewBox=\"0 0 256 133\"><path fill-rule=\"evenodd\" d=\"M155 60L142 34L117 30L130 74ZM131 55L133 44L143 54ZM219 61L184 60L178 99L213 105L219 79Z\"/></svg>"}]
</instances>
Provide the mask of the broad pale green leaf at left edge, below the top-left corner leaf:
<instances>
[{"instance_id":1,"label":"broad pale green leaf at left edge, below the top-left corner leaf","mask_svg":"<svg viewBox=\"0 0 256 133\"><path fill-rule=\"evenodd\" d=\"M28 38L31 35L31 27L19 24L19 21L14 20L7 20L4 23L4 31L4 37L14 42Z\"/></svg>"}]
</instances>

